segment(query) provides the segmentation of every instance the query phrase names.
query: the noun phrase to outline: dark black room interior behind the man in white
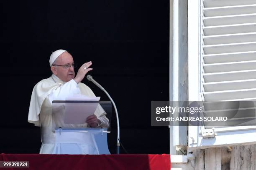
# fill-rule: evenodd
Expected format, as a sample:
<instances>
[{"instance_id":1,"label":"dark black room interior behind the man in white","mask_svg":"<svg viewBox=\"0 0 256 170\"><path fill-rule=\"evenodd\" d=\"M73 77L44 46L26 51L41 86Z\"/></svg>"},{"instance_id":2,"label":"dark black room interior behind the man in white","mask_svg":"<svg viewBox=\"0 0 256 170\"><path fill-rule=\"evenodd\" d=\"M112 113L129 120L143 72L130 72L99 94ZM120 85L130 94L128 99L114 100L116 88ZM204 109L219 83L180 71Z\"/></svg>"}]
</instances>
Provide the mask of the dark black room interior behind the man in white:
<instances>
[{"instance_id":1,"label":"dark black room interior behind the man in white","mask_svg":"<svg viewBox=\"0 0 256 170\"><path fill-rule=\"evenodd\" d=\"M33 86L64 49L112 96L128 153L169 153L169 128L151 126L151 100L169 100L169 0L1 1L0 153L38 153L40 128L27 122ZM83 80L101 100L108 97ZM116 149L116 120L108 134ZM124 153L124 150L120 150Z\"/></svg>"}]
</instances>

